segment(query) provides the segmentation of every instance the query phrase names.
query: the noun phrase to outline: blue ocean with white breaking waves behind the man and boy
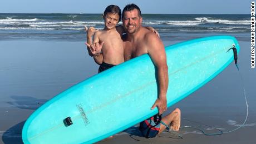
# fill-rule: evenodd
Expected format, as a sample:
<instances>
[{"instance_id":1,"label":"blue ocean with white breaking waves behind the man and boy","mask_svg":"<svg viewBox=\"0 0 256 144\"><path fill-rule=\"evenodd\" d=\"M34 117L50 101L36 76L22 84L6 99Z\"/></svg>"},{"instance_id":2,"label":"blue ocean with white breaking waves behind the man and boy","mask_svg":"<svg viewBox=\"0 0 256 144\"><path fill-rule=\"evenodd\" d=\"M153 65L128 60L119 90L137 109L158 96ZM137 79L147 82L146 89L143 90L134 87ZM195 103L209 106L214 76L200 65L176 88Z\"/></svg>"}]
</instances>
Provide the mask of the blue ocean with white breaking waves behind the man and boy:
<instances>
[{"instance_id":1,"label":"blue ocean with white breaking waves behind the man and boy","mask_svg":"<svg viewBox=\"0 0 256 144\"><path fill-rule=\"evenodd\" d=\"M157 29L163 41L191 39L195 34L198 37L228 34L249 41L249 14L142 14L142 17L143 26ZM0 13L0 40L84 41L84 26L104 28L102 14Z\"/></svg>"}]
</instances>

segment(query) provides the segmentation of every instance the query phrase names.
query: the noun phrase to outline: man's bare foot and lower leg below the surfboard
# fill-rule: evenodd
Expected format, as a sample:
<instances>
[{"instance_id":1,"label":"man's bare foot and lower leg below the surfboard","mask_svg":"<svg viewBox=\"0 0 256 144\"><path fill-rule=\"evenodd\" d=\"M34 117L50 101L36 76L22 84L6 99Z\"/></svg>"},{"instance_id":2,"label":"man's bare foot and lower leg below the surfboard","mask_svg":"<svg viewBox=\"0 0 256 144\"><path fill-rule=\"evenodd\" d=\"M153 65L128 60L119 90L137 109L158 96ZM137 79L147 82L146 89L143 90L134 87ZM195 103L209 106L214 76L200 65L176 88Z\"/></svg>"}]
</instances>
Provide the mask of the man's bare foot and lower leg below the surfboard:
<instances>
[{"instance_id":1,"label":"man's bare foot and lower leg below the surfboard","mask_svg":"<svg viewBox=\"0 0 256 144\"><path fill-rule=\"evenodd\" d=\"M171 112L169 115L162 118L162 121L170 126L170 128L173 131L179 131L180 128L180 109L175 108L173 112ZM171 124L171 125L170 125ZM166 126L161 123L159 133L163 132L165 130Z\"/></svg>"}]
</instances>

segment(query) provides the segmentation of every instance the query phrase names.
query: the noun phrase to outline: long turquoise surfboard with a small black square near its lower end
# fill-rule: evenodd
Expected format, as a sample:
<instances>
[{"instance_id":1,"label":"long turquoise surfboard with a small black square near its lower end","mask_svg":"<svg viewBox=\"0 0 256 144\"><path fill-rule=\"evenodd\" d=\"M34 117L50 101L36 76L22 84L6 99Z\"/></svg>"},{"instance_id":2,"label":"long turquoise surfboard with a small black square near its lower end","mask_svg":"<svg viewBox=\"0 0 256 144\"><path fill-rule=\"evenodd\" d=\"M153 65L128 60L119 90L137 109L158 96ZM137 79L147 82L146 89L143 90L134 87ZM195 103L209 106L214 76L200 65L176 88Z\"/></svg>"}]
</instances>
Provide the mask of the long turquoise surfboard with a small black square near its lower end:
<instances>
[{"instance_id":1,"label":"long turquoise surfboard with a small black square near its lower end","mask_svg":"<svg viewBox=\"0 0 256 144\"><path fill-rule=\"evenodd\" d=\"M165 47L168 107L212 80L234 59L231 36ZM93 143L155 115L156 67L148 54L101 72L53 97L27 119L24 143Z\"/></svg>"}]
</instances>

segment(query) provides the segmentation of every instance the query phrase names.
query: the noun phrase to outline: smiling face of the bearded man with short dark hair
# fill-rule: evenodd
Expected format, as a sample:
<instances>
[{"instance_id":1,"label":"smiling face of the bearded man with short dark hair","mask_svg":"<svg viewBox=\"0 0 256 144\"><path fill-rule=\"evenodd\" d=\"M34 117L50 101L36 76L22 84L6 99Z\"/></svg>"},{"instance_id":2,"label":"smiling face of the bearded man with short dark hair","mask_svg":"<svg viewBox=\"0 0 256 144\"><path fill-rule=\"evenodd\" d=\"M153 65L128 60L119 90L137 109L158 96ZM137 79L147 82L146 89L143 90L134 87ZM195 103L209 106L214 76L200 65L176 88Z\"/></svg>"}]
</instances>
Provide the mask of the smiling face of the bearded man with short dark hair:
<instances>
[{"instance_id":1,"label":"smiling face of the bearded man with short dark hair","mask_svg":"<svg viewBox=\"0 0 256 144\"><path fill-rule=\"evenodd\" d=\"M140 28L141 23L142 17L139 16L139 11L137 9L124 12L122 24L127 33L135 33Z\"/></svg>"}]
</instances>

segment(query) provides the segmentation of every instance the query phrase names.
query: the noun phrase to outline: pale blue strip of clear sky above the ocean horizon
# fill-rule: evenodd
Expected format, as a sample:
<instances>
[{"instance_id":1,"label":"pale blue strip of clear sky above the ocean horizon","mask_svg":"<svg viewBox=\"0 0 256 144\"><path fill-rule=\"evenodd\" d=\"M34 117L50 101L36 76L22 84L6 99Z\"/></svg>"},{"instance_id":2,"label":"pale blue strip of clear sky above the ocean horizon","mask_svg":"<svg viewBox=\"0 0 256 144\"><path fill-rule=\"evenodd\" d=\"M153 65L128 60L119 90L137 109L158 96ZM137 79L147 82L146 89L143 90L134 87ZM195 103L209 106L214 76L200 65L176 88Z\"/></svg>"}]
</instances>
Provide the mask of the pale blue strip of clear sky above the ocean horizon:
<instances>
[{"instance_id":1,"label":"pale blue strip of clear sky above the ocean horizon","mask_svg":"<svg viewBox=\"0 0 256 144\"><path fill-rule=\"evenodd\" d=\"M0 13L102 13L110 4L135 3L141 13L250 14L250 0L1 0Z\"/></svg>"}]
</instances>

